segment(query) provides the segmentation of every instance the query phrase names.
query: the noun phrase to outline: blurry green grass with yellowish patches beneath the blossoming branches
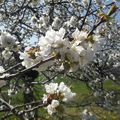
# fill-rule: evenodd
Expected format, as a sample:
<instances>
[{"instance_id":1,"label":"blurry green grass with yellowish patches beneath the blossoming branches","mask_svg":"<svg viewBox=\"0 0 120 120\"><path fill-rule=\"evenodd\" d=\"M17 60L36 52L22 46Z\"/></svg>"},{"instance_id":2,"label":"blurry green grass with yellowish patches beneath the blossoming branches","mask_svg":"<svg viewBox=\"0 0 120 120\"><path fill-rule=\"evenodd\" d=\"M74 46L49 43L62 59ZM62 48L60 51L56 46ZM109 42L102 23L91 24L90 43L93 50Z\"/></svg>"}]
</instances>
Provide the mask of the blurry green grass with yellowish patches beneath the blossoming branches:
<instances>
[{"instance_id":1,"label":"blurry green grass with yellowish patches beneath the blossoming branches","mask_svg":"<svg viewBox=\"0 0 120 120\"><path fill-rule=\"evenodd\" d=\"M36 81L42 82L43 77L39 77L36 79ZM81 113L84 109L90 110L93 114L96 114L99 120L119 120L120 115L116 111L108 111L101 107L96 106L94 103L91 105L89 104L89 101L94 100L91 97L92 92L86 87L86 85L77 80L72 80L67 77L58 77L56 79L56 82L60 83L61 81L64 81L67 83L68 86L71 87L71 89L77 93L77 96L75 97L75 100L63 104L64 112L62 115L56 114L56 116L50 116L48 115L47 111L44 108L40 108L38 110L38 120L59 120L60 118L64 117L65 120L80 120L81 119ZM114 82L108 80L104 83L104 88L106 90L120 90L119 85L116 85ZM34 95L36 100L40 100L44 94L44 86L41 85L34 85ZM5 94L6 97L7 94ZM19 92L17 95L11 97L13 105L18 105L23 103L23 91ZM86 105L85 105L86 104ZM0 113L0 118L5 115L4 113ZM6 120L19 120L15 116L11 116L10 118L7 118Z\"/></svg>"}]
</instances>

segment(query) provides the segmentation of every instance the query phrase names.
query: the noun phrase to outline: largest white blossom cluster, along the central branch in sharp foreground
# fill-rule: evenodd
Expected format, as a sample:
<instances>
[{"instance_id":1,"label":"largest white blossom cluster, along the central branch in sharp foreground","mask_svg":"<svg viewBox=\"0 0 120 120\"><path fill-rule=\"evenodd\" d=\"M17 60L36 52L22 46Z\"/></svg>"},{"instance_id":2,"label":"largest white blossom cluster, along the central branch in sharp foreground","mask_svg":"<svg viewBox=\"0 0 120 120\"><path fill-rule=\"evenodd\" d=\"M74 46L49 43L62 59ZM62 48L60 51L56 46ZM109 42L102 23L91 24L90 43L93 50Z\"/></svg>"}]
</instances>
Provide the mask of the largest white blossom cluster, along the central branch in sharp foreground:
<instances>
[{"instance_id":1,"label":"largest white blossom cluster, along the central branch in sharp foreground","mask_svg":"<svg viewBox=\"0 0 120 120\"><path fill-rule=\"evenodd\" d=\"M88 36L87 31L79 31L76 28L72 33L73 40L69 41L65 34L64 28L60 28L58 31L50 28L45 36L40 38L37 48L30 48L21 53L20 58L24 60L23 65L28 68L37 61L56 55L59 56L56 57L56 61L63 66L63 69L73 72L93 60L94 53L100 49L99 35ZM51 62L50 64L48 62L47 66L50 65Z\"/></svg>"}]
</instances>

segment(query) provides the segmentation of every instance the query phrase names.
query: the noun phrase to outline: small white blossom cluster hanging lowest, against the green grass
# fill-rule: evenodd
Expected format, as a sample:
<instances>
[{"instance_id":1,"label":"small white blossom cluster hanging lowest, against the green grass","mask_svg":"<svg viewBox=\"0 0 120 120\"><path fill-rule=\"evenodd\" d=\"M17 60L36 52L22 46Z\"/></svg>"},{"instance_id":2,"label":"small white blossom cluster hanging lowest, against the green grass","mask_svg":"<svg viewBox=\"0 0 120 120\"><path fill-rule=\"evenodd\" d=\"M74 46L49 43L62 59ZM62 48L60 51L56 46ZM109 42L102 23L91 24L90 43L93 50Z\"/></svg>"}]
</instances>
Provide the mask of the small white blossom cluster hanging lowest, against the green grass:
<instances>
[{"instance_id":1,"label":"small white blossom cluster hanging lowest, against the green grass","mask_svg":"<svg viewBox=\"0 0 120 120\"><path fill-rule=\"evenodd\" d=\"M45 90L47 94L44 94L42 100L50 115L57 112L61 101L69 102L76 95L63 82L59 85L58 83L46 84Z\"/></svg>"}]
</instances>

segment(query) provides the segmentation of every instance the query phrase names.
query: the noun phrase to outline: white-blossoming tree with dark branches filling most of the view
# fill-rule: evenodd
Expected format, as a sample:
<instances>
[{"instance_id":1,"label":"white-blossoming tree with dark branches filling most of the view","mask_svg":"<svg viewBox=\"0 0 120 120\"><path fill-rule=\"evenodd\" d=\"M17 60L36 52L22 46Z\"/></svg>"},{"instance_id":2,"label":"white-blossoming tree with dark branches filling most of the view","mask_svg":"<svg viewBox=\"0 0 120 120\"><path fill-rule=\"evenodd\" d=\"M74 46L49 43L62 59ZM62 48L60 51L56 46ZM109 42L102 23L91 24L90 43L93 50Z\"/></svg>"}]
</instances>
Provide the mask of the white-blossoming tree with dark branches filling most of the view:
<instances>
[{"instance_id":1,"label":"white-blossoming tree with dark branches filling most of the view","mask_svg":"<svg viewBox=\"0 0 120 120\"><path fill-rule=\"evenodd\" d=\"M0 119L39 119L42 107L62 119L62 105L76 98L72 87L59 81L62 77L84 82L92 96L99 97L97 106L118 105L120 99L114 95L119 92L105 91L103 85L106 79L113 80L112 69L119 63L117 4L115 0L0 0L0 80L5 81L0 87L4 114ZM16 106L13 99L20 95ZM97 117L85 109L81 119Z\"/></svg>"}]
</instances>

